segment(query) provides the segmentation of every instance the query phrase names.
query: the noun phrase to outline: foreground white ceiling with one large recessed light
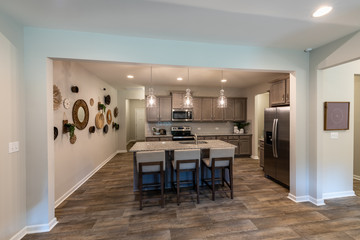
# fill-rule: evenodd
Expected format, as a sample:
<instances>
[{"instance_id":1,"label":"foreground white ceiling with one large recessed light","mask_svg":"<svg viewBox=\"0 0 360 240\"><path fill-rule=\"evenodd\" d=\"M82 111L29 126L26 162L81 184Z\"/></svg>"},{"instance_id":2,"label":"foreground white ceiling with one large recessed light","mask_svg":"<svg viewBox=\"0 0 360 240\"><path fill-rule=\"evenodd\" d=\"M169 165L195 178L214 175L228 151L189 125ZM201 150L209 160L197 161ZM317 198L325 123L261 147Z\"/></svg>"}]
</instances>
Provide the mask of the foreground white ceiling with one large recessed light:
<instances>
[{"instance_id":1,"label":"foreground white ceiling with one large recessed light","mask_svg":"<svg viewBox=\"0 0 360 240\"><path fill-rule=\"evenodd\" d=\"M323 18L312 12L334 10ZM0 0L26 26L303 50L360 29L359 0Z\"/></svg>"}]
</instances>

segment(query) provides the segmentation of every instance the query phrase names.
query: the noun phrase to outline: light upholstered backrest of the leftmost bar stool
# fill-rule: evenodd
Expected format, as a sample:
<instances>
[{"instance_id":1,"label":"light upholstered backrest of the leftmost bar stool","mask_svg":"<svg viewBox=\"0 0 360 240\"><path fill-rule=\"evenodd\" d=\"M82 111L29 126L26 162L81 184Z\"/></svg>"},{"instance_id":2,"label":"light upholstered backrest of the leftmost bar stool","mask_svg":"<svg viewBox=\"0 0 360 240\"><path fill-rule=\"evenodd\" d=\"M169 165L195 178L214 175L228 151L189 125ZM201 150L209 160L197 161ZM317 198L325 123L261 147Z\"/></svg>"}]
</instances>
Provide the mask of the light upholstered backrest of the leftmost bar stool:
<instances>
[{"instance_id":1,"label":"light upholstered backrest of the leftmost bar stool","mask_svg":"<svg viewBox=\"0 0 360 240\"><path fill-rule=\"evenodd\" d=\"M136 153L137 171L139 172L139 163L163 162L163 170L165 171L165 151L144 151ZM143 172L158 172L159 165L143 166Z\"/></svg>"}]
</instances>

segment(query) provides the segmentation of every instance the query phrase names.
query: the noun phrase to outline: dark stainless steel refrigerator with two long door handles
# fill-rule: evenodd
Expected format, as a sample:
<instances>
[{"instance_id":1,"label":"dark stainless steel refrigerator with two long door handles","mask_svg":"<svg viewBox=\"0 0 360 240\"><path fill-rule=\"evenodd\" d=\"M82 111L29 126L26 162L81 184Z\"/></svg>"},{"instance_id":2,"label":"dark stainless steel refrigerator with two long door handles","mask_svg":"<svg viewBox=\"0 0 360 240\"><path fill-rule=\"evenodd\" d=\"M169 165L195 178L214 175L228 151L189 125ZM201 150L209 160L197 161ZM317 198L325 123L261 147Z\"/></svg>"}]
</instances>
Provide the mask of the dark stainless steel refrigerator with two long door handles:
<instances>
[{"instance_id":1,"label":"dark stainless steel refrigerator with two long door handles","mask_svg":"<svg viewBox=\"0 0 360 240\"><path fill-rule=\"evenodd\" d=\"M290 185L290 107L265 109L264 172Z\"/></svg>"}]
</instances>

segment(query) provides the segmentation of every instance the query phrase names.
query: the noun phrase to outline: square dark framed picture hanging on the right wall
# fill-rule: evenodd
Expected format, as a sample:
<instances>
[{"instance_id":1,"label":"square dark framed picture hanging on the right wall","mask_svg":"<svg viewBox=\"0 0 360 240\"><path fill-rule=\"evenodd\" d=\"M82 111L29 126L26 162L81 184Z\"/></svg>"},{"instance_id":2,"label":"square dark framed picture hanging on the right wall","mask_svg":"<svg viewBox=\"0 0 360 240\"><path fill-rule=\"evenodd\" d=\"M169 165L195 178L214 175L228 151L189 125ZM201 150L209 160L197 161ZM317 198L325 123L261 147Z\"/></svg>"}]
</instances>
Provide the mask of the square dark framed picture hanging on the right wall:
<instances>
[{"instance_id":1,"label":"square dark framed picture hanging on the right wall","mask_svg":"<svg viewBox=\"0 0 360 240\"><path fill-rule=\"evenodd\" d=\"M350 102L324 103L324 130L349 130Z\"/></svg>"}]
</instances>

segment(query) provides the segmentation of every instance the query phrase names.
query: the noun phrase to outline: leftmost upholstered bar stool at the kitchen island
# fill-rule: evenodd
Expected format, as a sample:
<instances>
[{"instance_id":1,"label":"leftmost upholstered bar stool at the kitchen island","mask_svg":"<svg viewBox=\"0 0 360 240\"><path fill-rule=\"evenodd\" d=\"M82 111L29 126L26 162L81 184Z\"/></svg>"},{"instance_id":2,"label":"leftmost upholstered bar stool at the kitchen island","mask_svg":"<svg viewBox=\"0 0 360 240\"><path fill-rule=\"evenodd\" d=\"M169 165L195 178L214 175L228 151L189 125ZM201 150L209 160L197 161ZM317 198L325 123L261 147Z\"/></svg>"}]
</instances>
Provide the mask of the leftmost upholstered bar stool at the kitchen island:
<instances>
[{"instance_id":1,"label":"leftmost upholstered bar stool at the kitchen island","mask_svg":"<svg viewBox=\"0 0 360 240\"><path fill-rule=\"evenodd\" d=\"M140 210L143 204L143 186L160 187L161 189L161 207L165 205L164 182L165 182L165 151L145 151L136 153L138 183L139 183L139 202ZM160 175L160 183L143 183L144 175Z\"/></svg>"}]
</instances>

